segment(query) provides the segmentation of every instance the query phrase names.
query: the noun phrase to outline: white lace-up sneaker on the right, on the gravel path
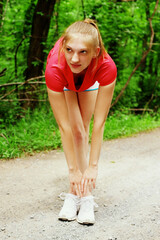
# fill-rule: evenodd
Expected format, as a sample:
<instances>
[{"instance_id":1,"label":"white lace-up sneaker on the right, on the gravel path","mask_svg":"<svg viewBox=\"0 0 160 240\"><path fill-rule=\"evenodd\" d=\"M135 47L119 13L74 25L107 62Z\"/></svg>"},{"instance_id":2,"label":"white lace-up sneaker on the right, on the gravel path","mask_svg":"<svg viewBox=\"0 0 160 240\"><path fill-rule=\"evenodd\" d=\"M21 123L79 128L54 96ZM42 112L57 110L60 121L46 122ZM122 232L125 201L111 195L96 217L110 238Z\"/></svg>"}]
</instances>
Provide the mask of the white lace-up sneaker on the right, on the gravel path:
<instances>
[{"instance_id":1,"label":"white lace-up sneaker on the right, on the gravel path","mask_svg":"<svg viewBox=\"0 0 160 240\"><path fill-rule=\"evenodd\" d=\"M86 225L93 225L95 223L94 207L98 207L98 205L94 202L93 196L81 198L77 222Z\"/></svg>"}]
</instances>

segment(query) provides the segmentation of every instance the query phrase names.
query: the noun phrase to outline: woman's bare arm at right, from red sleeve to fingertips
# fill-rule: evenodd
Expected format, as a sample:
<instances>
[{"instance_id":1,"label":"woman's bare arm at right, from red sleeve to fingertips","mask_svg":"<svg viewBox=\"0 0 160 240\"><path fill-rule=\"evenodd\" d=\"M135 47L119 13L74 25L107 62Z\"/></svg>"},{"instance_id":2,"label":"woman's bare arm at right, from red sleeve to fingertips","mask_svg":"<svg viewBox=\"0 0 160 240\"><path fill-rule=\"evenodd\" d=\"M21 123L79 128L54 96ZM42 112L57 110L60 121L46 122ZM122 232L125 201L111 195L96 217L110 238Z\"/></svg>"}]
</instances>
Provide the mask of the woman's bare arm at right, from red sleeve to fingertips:
<instances>
[{"instance_id":1,"label":"woman's bare arm at right, from red sleeve to fingertips","mask_svg":"<svg viewBox=\"0 0 160 240\"><path fill-rule=\"evenodd\" d=\"M95 188L95 181L98 172L98 160L100 156L101 145L103 141L104 124L111 106L115 81L107 86L99 87L94 112L94 125L91 140L91 152L89 159L89 167L83 174L81 181L81 189L84 192L87 186Z\"/></svg>"}]
</instances>

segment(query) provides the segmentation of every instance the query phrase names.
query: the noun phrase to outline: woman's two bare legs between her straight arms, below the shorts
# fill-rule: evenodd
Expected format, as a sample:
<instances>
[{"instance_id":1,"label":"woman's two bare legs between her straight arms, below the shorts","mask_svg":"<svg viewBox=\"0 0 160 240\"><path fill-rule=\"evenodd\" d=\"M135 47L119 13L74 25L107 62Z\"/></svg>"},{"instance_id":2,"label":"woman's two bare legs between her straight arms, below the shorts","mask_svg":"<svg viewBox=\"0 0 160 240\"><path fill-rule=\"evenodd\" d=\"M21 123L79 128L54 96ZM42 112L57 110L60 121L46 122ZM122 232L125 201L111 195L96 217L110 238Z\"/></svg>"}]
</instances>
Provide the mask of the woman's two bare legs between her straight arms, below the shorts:
<instances>
[{"instance_id":1,"label":"woman's two bare legs between her straight arms, below the shorts","mask_svg":"<svg viewBox=\"0 0 160 240\"><path fill-rule=\"evenodd\" d=\"M98 91L66 91L69 121L73 133L77 163L83 173L87 168L88 135Z\"/></svg>"}]
</instances>

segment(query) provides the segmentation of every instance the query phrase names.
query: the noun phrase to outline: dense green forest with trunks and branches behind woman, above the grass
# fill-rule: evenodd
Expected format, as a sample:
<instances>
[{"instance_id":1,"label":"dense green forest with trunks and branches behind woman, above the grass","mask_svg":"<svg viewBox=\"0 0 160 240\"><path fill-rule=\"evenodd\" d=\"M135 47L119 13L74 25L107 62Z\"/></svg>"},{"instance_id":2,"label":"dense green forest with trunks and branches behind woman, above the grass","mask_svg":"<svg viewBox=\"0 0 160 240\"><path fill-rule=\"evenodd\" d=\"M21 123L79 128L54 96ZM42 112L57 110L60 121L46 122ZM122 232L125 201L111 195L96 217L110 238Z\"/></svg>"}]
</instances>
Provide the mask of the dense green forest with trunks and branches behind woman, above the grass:
<instances>
[{"instance_id":1,"label":"dense green forest with trunks and branches behind woman, above the grass","mask_svg":"<svg viewBox=\"0 0 160 240\"><path fill-rule=\"evenodd\" d=\"M1 147L10 143L7 127L28 112L50 111L47 55L66 27L85 18L97 22L117 65L111 112L159 119L159 0L0 0Z\"/></svg>"}]
</instances>

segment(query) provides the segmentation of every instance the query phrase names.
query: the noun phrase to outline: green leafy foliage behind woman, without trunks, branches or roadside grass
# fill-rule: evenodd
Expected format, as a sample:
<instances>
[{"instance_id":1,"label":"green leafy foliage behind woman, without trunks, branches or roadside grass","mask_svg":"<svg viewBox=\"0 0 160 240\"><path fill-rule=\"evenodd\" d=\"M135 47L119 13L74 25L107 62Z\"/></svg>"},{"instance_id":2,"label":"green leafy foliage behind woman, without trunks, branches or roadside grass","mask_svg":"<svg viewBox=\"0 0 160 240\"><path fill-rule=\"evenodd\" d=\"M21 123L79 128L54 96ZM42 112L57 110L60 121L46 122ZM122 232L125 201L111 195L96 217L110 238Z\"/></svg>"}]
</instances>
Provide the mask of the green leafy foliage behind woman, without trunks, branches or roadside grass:
<instances>
[{"instance_id":1,"label":"green leafy foliage behind woman, without trunks, branches or roadside grass","mask_svg":"<svg viewBox=\"0 0 160 240\"><path fill-rule=\"evenodd\" d=\"M84 15L96 19L105 47L118 68L117 86L114 95L116 97L135 65L140 61L143 51L148 47L150 40L148 17L153 13L155 2L154 0L149 2L146 0L135 2L84 0L83 8L81 0L57 1L44 50L46 57L68 25L76 20L82 20ZM24 81L23 76L27 66L32 18L36 3L36 0L25 2L11 0L8 5L4 3L3 9L6 12L0 32L0 66L1 70L7 68L7 72L1 77L1 83ZM160 97L160 84L159 82L157 84L160 77L158 14L159 9L152 21L155 31L153 50L132 77L125 94L116 106L117 109L122 106L143 108L154 96L149 107L157 110L158 98ZM17 47L18 68L15 78L15 52ZM34 64L37 65L39 62L34 61ZM2 93L1 89L0 93Z\"/></svg>"}]
</instances>

